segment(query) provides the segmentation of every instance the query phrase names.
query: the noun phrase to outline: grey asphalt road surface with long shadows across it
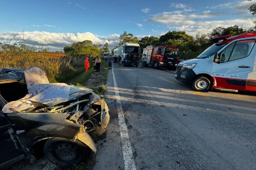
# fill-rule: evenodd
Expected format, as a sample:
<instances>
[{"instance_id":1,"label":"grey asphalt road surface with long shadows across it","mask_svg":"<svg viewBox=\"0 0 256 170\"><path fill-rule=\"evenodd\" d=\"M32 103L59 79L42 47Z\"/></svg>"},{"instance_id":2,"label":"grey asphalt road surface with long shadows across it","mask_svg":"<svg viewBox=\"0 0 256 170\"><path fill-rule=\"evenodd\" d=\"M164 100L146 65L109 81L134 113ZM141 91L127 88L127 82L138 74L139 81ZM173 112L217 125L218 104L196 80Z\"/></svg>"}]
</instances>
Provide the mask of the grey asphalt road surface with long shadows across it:
<instances>
[{"instance_id":1,"label":"grey asphalt road surface with long shadows across it","mask_svg":"<svg viewBox=\"0 0 256 170\"><path fill-rule=\"evenodd\" d=\"M174 73L117 66L107 86L95 170L129 169L127 159L137 170L256 169L256 93L198 93Z\"/></svg>"}]
</instances>

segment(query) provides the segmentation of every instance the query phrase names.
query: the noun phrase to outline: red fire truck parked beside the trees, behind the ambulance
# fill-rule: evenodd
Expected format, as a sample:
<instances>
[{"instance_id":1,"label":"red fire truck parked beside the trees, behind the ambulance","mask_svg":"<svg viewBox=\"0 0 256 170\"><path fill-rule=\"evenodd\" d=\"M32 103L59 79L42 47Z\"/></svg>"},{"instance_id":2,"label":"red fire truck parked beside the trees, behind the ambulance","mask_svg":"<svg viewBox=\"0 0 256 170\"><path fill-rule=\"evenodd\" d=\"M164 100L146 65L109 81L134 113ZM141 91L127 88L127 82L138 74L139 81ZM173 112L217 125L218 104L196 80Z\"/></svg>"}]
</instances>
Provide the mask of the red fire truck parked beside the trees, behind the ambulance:
<instances>
[{"instance_id":1,"label":"red fire truck parked beside the trees, behind the ambulance","mask_svg":"<svg viewBox=\"0 0 256 170\"><path fill-rule=\"evenodd\" d=\"M158 47L149 45L143 49L143 56L144 54L147 56L146 64L151 65L154 68L164 67L172 69L178 64L179 60L179 48L169 45Z\"/></svg>"}]
</instances>

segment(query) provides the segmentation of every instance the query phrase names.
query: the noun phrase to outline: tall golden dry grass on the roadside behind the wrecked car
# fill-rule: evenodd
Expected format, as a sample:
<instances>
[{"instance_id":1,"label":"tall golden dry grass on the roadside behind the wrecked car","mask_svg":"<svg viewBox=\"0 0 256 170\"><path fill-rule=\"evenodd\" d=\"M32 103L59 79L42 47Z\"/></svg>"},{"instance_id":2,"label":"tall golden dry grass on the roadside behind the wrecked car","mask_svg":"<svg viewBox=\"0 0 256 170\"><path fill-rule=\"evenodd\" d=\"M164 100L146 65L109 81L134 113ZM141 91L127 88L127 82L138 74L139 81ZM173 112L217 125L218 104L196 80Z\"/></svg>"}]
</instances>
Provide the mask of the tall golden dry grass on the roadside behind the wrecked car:
<instances>
[{"instance_id":1,"label":"tall golden dry grass on the roadside behind the wrecked car","mask_svg":"<svg viewBox=\"0 0 256 170\"><path fill-rule=\"evenodd\" d=\"M52 83L65 82L67 79L82 73L81 67L78 67L84 65L84 57L63 55L65 54L35 53L33 47L28 47L22 43L0 42L0 68L27 69L36 65L44 69L49 81ZM71 65L73 60L79 60L79 65L75 65L76 63ZM65 78L59 78L62 76L65 76Z\"/></svg>"}]
</instances>

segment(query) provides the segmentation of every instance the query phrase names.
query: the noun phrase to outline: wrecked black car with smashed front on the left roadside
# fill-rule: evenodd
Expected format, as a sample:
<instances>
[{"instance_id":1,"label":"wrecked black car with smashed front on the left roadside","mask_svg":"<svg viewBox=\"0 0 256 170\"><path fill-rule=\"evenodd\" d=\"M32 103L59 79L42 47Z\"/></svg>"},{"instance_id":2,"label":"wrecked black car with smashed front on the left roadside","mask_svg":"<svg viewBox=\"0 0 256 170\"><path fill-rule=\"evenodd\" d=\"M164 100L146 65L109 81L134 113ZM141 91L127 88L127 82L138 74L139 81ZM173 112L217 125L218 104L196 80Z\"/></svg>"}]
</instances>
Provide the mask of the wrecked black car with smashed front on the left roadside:
<instances>
[{"instance_id":1,"label":"wrecked black car with smashed front on the left roadside","mask_svg":"<svg viewBox=\"0 0 256 170\"><path fill-rule=\"evenodd\" d=\"M39 153L61 167L85 161L110 119L91 89L49 83L37 66L0 68L0 110L0 168Z\"/></svg>"}]
</instances>

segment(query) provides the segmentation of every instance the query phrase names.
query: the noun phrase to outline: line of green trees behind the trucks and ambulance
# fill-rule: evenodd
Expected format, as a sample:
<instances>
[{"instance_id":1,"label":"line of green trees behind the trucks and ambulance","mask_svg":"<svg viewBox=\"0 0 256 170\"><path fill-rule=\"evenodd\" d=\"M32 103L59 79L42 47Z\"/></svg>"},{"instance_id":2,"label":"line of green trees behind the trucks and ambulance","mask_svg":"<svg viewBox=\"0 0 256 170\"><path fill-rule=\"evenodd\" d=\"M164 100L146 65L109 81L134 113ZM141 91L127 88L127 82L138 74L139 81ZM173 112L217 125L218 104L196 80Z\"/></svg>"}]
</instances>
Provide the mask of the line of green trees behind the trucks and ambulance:
<instances>
[{"instance_id":1,"label":"line of green trees behind the trucks and ambulance","mask_svg":"<svg viewBox=\"0 0 256 170\"><path fill-rule=\"evenodd\" d=\"M248 9L252 15L256 14L256 4L253 4ZM256 21L250 21L256 25ZM192 59L201 54L206 48L213 44L212 38L216 36L228 35L233 36L241 34L247 31L255 31L256 26L250 29L239 27L238 25L229 26L227 28L217 27L208 34L196 34L195 37L188 35L185 31L168 31L159 38L150 36L143 37L138 40L132 33L123 32L119 36L119 42L117 46L123 42L135 42L139 43L141 52L147 45L171 45L180 49L180 59ZM109 52L108 43L105 43L102 48L101 45L96 45L92 41L85 40L83 42L73 43L72 46L64 47L64 52L73 55L86 55L86 56L97 56L100 53ZM113 49L112 49L113 53Z\"/></svg>"}]
</instances>

